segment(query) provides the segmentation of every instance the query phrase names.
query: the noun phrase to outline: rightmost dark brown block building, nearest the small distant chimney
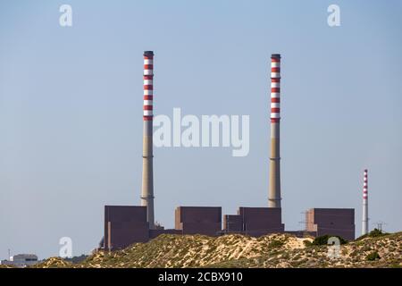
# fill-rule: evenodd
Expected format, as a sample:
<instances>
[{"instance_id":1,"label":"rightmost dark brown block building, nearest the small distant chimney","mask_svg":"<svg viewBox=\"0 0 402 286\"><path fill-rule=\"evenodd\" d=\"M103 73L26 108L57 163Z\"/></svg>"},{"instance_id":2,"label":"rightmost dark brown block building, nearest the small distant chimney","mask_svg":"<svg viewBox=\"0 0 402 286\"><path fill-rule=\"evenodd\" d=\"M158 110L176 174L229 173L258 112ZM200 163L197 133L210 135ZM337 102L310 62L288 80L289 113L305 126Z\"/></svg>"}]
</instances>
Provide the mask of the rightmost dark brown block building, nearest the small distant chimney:
<instances>
[{"instance_id":1,"label":"rightmost dark brown block building, nearest the small distant chimney","mask_svg":"<svg viewBox=\"0 0 402 286\"><path fill-rule=\"evenodd\" d=\"M354 208L311 208L306 212L306 231L316 236L338 235L355 240Z\"/></svg>"}]
</instances>

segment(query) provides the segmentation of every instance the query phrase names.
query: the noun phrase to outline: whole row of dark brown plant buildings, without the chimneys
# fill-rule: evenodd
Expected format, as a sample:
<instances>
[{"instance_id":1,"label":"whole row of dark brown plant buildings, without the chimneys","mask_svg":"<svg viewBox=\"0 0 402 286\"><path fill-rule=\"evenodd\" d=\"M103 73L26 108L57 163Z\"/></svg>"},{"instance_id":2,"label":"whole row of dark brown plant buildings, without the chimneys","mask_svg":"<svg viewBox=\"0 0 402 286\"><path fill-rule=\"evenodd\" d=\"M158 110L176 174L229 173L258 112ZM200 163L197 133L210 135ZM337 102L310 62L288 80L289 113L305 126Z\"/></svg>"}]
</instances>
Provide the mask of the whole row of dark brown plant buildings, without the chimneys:
<instances>
[{"instance_id":1,"label":"whole row of dark brown plant buildings, without the chimneys","mask_svg":"<svg viewBox=\"0 0 402 286\"><path fill-rule=\"evenodd\" d=\"M355 239L355 210L348 208L309 209L306 212L306 231L285 231L285 225L281 223L281 208L239 207L238 214L224 214L222 217L220 206L179 206L174 217L174 229L150 229L147 206L105 206L105 239L100 248L126 248L132 243L155 239L163 233L208 236L239 233L254 237L270 233L297 236L308 233Z\"/></svg>"}]
</instances>

